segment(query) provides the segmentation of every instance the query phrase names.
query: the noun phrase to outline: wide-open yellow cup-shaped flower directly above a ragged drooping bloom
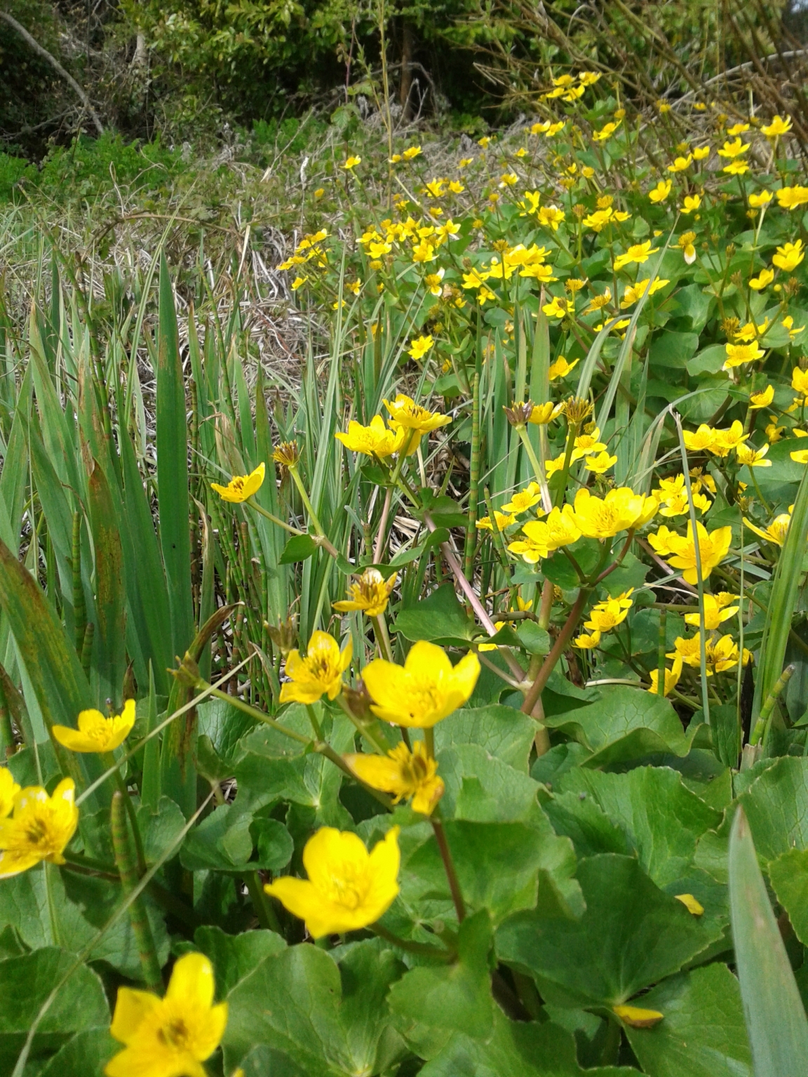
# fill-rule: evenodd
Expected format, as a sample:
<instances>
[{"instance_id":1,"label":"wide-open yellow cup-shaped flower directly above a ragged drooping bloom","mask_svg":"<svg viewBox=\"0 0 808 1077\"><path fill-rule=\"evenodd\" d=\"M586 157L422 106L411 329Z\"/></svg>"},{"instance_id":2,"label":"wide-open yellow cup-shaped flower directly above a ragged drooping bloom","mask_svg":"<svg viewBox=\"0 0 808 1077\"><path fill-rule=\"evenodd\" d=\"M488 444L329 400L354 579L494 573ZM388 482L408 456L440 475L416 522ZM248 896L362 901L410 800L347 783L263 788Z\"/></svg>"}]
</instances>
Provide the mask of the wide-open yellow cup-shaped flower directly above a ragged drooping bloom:
<instances>
[{"instance_id":1,"label":"wide-open yellow cup-shaped flower directly above a ragged drooping bloom","mask_svg":"<svg viewBox=\"0 0 808 1077\"><path fill-rule=\"evenodd\" d=\"M468 654L452 668L434 643L419 640L404 666L375 658L362 671L377 717L398 726L429 729L465 703L479 676L479 659Z\"/></svg>"}]
</instances>

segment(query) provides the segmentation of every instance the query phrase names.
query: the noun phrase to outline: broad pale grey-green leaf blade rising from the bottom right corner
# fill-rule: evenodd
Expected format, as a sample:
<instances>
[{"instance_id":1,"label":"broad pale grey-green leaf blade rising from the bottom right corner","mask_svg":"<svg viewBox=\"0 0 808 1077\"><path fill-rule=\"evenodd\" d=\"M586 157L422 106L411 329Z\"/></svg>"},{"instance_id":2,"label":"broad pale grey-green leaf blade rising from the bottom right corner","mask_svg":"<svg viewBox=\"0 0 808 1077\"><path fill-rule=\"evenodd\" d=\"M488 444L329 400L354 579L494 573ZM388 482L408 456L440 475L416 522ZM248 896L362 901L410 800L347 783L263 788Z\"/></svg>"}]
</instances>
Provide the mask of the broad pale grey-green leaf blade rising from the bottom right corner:
<instances>
[{"instance_id":1,"label":"broad pale grey-green leaf blade rising from the bottom right corner","mask_svg":"<svg viewBox=\"0 0 808 1077\"><path fill-rule=\"evenodd\" d=\"M729 910L755 1077L798 1077L808 1072L808 1020L742 808L729 837Z\"/></svg>"}]
</instances>

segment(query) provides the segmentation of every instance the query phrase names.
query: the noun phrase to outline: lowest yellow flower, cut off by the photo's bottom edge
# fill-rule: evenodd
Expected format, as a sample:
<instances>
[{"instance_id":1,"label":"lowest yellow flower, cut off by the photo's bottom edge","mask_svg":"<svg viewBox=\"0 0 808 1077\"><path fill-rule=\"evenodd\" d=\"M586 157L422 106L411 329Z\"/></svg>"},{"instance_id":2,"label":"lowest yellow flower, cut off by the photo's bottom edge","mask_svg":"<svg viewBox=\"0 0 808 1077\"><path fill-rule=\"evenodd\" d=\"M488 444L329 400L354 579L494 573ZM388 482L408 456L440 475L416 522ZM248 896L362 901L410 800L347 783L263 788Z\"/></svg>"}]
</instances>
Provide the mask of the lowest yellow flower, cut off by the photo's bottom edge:
<instances>
[{"instance_id":1,"label":"lowest yellow flower, cut off by the photo's bottom edge","mask_svg":"<svg viewBox=\"0 0 808 1077\"><path fill-rule=\"evenodd\" d=\"M213 1006L213 968L201 953L186 953L171 973L165 998L119 988L110 1033L125 1044L107 1077L205 1077L203 1062L219 1047L227 1003Z\"/></svg>"}]
</instances>

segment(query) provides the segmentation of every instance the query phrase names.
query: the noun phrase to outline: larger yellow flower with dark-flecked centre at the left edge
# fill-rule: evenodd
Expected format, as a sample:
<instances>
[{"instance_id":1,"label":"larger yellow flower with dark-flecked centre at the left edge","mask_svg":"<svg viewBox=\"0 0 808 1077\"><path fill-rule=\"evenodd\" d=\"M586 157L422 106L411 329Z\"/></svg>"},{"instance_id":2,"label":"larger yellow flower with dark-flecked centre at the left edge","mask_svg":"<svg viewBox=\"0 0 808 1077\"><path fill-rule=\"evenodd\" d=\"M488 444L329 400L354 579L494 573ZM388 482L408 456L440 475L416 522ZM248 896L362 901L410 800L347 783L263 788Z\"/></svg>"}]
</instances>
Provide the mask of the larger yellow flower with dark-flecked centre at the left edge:
<instances>
[{"instance_id":1,"label":"larger yellow flower with dark-flecked centre at the left edge","mask_svg":"<svg viewBox=\"0 0 808 1077\"><path fill-rule=\"evenodd\" d=\"M29 785L14 798L13 814L0 819L0 879L27 871L40 861L64 864L65 847L79 824L72 778L65 778L53 795Z\"/></svg>"}]
</instances>

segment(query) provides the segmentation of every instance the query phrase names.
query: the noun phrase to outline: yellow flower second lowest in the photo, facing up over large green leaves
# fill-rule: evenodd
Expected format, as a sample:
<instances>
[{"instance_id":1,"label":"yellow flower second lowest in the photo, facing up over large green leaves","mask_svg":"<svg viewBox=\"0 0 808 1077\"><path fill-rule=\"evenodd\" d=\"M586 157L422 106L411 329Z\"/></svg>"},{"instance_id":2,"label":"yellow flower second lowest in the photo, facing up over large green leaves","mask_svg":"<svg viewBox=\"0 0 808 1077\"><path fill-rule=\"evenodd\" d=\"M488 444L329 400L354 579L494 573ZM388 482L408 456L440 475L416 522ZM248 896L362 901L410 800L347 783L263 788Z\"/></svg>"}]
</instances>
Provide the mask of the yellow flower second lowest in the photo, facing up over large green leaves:
<instances>
[{"instance_id":1,"label":"yellow flower second lowest in the photo, facing up over large green leaves","mask_svg":"<svg viewBox=\"0 0 808 1077\"><path fill-rule=\"evenodd\" d=\"M323 826L303 850L308 879L283 876L264 890L305 920L309 935L342 935L382 917L399 893L399 827L392 826L372 853L349 830Z\"/></svg>"}]
</instances>

